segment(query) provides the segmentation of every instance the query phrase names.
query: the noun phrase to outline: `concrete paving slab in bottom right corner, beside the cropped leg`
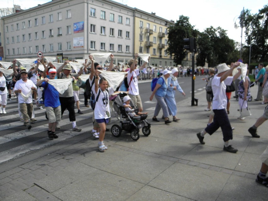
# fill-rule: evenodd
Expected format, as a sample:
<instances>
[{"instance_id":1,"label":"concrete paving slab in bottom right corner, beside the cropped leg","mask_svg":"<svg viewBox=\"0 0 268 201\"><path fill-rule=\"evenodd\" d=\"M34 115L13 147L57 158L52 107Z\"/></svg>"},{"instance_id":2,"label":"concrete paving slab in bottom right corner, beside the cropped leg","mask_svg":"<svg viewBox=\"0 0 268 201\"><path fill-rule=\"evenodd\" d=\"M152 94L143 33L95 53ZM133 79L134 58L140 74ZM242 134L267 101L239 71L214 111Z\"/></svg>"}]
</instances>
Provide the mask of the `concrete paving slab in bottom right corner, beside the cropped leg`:
<instances>
[{"instance_id":1,"label":"concrete paving slab in bottom right corner, beside the cropped leg","mask_svg":"<svg viewBox=\"0 0 268 201\"><path fill-rule=\"evenodd\" d=\"M263 201L267 198L267 187L257 184L252 179L232 175L222 189L217 201Z\"/></svg>"}]
</instances>

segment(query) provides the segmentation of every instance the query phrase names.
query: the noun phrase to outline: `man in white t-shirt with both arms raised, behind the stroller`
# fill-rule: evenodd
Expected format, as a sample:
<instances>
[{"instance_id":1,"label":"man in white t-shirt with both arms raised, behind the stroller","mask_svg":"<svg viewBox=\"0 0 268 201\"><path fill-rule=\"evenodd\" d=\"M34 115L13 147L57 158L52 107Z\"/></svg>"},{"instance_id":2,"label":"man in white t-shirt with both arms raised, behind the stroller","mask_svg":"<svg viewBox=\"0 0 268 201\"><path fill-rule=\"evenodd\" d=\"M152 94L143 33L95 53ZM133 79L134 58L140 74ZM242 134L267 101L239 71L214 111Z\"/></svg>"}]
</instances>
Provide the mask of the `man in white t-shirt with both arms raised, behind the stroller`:
<instances>
[{"instance_id":1,"label":"man in white t-shirt with both arms raised, behind the stroller","mask_svg":"<svg viewBox=\"0 0 268 201\"><path fill-rule=\"evenodd\" d=\"M139 87L138 87L138 79L137 76L139 76L139 71L142 70L147 62L144 62L144 64L142 64L142 66L137 69L137 57L138 54L135 54L135 59L130 59L127 63L130 66L130 70L127 71L127 83L128 83L128 91L129 91L129 97L131 98L133 104L139 109L139 112L142 111L142 100L141 97L139 95ZM150 59L150 57L149 57ZM148 59L148 60L149 60Z\"/></svg>"}]
</instances>

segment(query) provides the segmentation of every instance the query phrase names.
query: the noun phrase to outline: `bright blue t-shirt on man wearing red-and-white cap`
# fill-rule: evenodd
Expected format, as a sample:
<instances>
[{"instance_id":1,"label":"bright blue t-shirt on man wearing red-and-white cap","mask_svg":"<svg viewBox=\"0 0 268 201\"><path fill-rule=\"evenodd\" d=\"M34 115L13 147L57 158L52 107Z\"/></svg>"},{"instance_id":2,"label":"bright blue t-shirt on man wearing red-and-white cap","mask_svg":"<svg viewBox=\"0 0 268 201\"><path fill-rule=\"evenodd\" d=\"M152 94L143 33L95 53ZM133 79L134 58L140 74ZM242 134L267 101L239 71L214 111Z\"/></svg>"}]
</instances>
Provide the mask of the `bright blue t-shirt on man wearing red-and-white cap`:
<instances>
[{"instance_id":1,"label":"bright blue t-shirt on man wearing red-and-white cap","mask_svg":"<svg viewBox=\"0 0 268 201\"><path fill-rule=\"evenodd\" d=\"M41 87L45 90L45 106L46 107L59 107L59 92L53 87L53 85L43 81ZM46 88L47 87L47 88ZM45 89L46 88L46 89Z\"/></svg>"}]
</instances>

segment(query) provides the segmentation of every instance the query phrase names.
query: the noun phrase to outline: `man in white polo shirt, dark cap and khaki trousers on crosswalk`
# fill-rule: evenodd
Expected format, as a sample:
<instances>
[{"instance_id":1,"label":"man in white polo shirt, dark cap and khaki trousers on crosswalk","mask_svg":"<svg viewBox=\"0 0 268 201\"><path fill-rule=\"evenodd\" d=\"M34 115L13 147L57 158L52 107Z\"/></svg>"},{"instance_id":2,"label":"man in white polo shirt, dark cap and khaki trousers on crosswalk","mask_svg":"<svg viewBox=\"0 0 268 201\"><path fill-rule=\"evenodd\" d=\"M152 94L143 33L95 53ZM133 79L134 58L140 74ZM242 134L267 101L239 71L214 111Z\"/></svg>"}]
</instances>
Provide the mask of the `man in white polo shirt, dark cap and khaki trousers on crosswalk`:
<instances>
[{"instance_id":1,"label":"man in white polo shirt, dark cap and khaki trousers on crosswalk","mask_svg":"<svg viewBox=\"0 0 268 201\"><path fill-rule=\"evenodd\" d=\"M36 91L35 84L28 80L28 74L26 70L20 72L21 79L18 80L14 87L14 92L18 93L18 102L20 104L20 112L23 116L24 126L27 126L28 129L31 129L29 124L29 119L32 118L32 109L33 109L33 98L32 91Z\"/></svg>"}]
</instances>

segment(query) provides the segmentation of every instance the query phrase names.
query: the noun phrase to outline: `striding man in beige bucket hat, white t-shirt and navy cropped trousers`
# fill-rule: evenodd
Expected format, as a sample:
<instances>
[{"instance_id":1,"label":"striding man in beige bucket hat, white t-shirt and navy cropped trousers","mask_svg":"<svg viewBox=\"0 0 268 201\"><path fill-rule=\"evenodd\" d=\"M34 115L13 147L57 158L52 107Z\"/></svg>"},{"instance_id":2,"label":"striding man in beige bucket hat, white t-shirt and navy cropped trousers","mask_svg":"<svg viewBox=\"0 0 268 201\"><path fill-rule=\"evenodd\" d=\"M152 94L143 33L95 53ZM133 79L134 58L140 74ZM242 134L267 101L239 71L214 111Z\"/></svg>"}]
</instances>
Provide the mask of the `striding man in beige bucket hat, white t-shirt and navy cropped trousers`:
<instances>
[{"instance_id":1,"label":"striding man in beige bucket hat, white t-shirt and navy cropped trousers","mask_svg":"<svg viewBox=\"0 0 268 201\"><path fill-rule=\"evenodd\" d=\"M239 66L239 62L232 63L231 68L229 68L226 64L219 64L217 66L218 74L216 74L212 80L212 91L213 91L213 101L212 101L212 109L214 112L213 122L209 124L203 131L197 133L197 137L201 144L205 144L204 135L209 133L212 135L215 131L221 127L221 131L223 134L224 147L223 150L231 153L236 153L238 150L233 148L232 145L229 144L229 140L233 139L232 127L230 121L228 119L228 115L226 113L226 85L229 86L232 84L232 81L236 80L237 77L241 75L241 71L234 76L229 76L232 74L232 71Z\"/></svg>"}]
</instances>

